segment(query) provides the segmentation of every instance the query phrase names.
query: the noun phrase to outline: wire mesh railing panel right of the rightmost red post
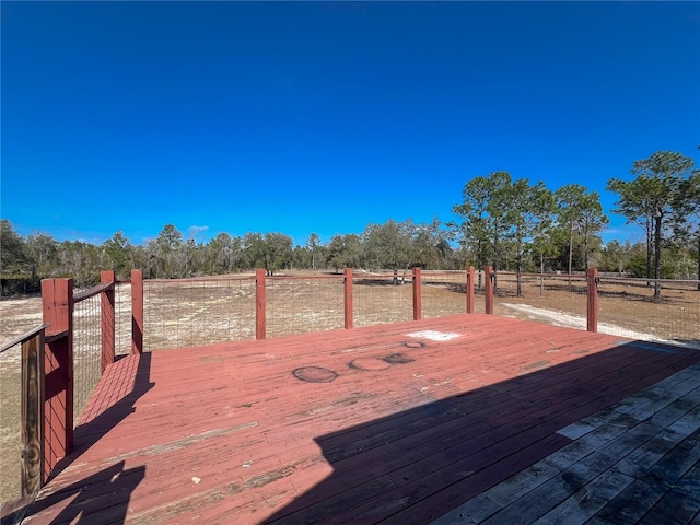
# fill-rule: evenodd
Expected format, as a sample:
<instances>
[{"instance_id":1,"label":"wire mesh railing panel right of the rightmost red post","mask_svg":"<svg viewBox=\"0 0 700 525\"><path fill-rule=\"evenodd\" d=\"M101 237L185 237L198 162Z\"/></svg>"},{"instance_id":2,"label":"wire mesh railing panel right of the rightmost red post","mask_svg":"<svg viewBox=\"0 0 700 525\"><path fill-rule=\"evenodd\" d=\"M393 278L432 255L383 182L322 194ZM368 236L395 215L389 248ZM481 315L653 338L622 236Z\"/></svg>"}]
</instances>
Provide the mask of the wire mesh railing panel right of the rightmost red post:
<instances>
[{"instance_id":1,"label":"wire mesh railing panel right of the rightmost red post","mask_svg":"<svg viewBox=\"0 0 700 525\"><path fill-rule=\"evenodd\" d=\"M654 299L657 282L661 296ZM698 282L600 278L598 331L700 348Z\"/></svg>"}]
</instances>

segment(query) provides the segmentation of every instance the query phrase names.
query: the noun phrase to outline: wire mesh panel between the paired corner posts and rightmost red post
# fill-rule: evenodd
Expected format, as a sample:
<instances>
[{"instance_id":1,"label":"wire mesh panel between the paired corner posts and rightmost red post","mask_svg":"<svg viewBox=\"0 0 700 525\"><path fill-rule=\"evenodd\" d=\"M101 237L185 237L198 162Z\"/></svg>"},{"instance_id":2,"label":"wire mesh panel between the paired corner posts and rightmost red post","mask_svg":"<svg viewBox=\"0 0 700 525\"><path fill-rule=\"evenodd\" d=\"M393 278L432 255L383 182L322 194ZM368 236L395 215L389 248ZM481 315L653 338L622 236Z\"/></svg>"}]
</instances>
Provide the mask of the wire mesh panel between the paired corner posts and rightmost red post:
<instances>
[{"instance_id":1,"label":"wire mesh panel between the paired corner posts and rightmost red post","mask_svg":"<svg viewBox=\"0 0 700 525\"><path fill-rule=\"evenodd\" d=\"M557 273L498 272L495 315L586 329L586 278Z\"/></svg>"}]
</instances>

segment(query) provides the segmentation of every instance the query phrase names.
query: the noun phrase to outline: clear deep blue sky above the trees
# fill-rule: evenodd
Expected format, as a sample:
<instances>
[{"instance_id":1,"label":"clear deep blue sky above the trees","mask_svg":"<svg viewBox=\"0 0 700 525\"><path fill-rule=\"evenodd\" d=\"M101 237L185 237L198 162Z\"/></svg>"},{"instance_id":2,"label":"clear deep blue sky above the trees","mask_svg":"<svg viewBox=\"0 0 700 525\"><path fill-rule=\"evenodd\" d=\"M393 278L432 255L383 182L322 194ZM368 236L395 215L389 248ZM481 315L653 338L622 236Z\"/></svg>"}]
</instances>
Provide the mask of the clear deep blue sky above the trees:
<instances>
[{"instance_id":1,"label":"clear deep blue sky above the trees","mask_svg":"<svg viewBox=\"0 0 700 525\"><path fill-rule=\"evenodd\" d=\"M634 161L700 164L700 2L1 5L0 213L23 235L328 242L452 220L493 171L610 210Z\"/></svg>"}]
</instances>

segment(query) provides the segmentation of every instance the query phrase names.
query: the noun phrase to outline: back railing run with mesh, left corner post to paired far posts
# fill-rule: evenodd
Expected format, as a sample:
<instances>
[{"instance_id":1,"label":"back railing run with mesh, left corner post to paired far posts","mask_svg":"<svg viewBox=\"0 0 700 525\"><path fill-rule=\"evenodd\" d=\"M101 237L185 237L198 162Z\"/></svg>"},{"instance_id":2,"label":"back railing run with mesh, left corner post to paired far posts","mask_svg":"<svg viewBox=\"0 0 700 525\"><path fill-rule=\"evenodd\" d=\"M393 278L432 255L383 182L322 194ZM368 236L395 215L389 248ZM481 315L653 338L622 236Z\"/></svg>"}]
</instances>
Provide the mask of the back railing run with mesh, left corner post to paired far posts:
<instances>
[{"instance_id":1,"label":"back railing run with mesh, left corner post to paired far posts","mask_svg":"<svg viewBox=\"0 0 700 525\"><path fill-rule=\"evenodd\" d=\"M143 349L265 339L464 313L467 275L416 268L396 273L347 269L343 273L270 277L260 269L237 277L148 279L142 281Z\"/></svg>"}]
</instances>

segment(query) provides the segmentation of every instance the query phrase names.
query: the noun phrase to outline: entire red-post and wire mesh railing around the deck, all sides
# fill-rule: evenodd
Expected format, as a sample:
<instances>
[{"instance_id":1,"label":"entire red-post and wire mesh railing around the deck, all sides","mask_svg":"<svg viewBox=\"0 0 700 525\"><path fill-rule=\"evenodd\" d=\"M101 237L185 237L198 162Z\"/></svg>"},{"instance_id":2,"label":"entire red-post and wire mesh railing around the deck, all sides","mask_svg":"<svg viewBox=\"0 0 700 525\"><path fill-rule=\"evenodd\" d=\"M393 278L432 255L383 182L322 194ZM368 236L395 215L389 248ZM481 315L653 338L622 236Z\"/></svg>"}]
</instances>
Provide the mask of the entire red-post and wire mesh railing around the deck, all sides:
<instances>
[{"instance_id":1,"label":"entire red-post and wire mesh railing around the deck, all sides","mask_svg":"<svg viewBox=\"0 0 700 525\"><path fill-rule=\"evenodd\" d=\"M302 277L268 277L260 269L243 277L145 281L141 270L133 270L128 281L130 351L351 329L458 313L509 315L521 308L530 316L539 308L551 315L552 304L559 305L553 312L556 324L570 318L588 331L599 327L610 331L609 323L620 324L622 317L629 317L630 301L666 308L666 314L677 311L675 316L664 314L673 320L660 339L700 343L698 281L662 281L662 300L653 298L655 284L650 279L599 278L597 270L585 276L518 275L494 272L491 267L479 272L472 267L466 271L413 268L387 273L346 269L343 273ZM23 368L22 377L34 382L22 387L27 407L34 407L22 409L23 435L28 440L22 445L22 457L34 462L23 463L23 491L36 490L36 480L43 483L70 452L80 407L100 374L115 360L118 287L110 270L102 272L100 284L74 294L71 279L42 282L45 324L14 341L23 351L26 346L22 362L24 366L26 361L27 372ZM551 322L546 315L544 320ZM637 337L634 334L628 337ZM83 369L92 372L83 374Z\"/></svg>"}]
</instances>

